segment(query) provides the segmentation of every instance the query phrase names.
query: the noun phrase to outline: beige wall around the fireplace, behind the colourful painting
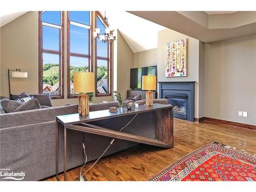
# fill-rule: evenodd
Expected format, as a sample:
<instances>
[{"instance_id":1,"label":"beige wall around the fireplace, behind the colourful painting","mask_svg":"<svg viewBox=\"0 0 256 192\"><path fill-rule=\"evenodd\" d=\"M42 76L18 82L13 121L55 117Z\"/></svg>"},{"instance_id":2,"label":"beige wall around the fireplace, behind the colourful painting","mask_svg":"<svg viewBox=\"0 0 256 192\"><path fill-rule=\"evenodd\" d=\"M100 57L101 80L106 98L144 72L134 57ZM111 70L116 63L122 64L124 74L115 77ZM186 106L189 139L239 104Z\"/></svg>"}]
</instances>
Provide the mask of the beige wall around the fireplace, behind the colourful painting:
<instances>
[{"instance_id":1,"label":"beige wall around the fireplace, behind the colourful painting","mask_svg":"<svg viewBox=\"0 0 256 192\"><path fill-rule=\"evenodd\" d=\"M165 44L186 38L187 40L187 76L186 77L165 77ZM199 53L199 47L201 51ZM201 60L199 60L201 58ZM203 42L176 32L165 29L158 32L158 47L134 54L134 67L145 67L157 65L158 81L196 81L195 83L195 117L203 117L203 104L199 104L199 97L203 98L203 83L199 92L199 76L203 79ZM159 88L158 88L159 90ZM200 110L200 112L199 112Z\"/></svg>"}]
</instances>

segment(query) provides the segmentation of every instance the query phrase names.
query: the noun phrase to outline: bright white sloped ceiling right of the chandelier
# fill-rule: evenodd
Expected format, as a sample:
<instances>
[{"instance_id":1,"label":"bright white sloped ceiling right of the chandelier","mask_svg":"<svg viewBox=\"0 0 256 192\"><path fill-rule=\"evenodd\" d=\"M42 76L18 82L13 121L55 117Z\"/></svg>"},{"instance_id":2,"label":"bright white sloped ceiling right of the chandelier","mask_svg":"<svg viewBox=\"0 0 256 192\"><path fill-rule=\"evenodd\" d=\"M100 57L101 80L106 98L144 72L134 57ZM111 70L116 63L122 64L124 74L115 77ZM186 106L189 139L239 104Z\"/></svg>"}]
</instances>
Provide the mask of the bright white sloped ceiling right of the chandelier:
<instances>
[{"instance_id":1,"label":"bright white sloped ceiling right of the chandelier","mask_svg":"<svg viewBox=\"0 0 256 192\"><path fill-rule=\"evenodd\" d=\"M118 29L134 53L157 48L158 32L166 29L126 11L106 11L111 28Z\"/></svg>"}]
</instances>

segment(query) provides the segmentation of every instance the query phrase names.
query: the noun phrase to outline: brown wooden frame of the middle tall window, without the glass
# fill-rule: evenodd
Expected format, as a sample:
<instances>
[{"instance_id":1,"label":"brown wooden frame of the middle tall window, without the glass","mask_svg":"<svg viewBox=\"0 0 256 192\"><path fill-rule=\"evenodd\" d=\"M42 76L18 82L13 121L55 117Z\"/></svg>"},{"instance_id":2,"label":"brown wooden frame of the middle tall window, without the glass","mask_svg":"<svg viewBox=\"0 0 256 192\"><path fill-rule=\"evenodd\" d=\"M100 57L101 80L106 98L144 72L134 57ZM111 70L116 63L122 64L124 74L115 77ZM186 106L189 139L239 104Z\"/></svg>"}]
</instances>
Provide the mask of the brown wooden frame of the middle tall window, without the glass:
<instances>
[{"instance_id":1,"label":"brown wooden frame of the middle tall window, without the glass","mask_svg":"<svg viewBox=\"0 0 256 192\"><path fill-rule=\"evenodd\" d=\"M88 62L88 71L90 72L93 72L93 33L92 33L92 30L94 29L93 28L93 11L90 11L90 33L88 34L88 38L89 38L89 41L88 41L88 44L89 44L89 47L88 47L88 53L89 55L87 54L80 54L80 53L71 53L70 52L70 23L72 21L70 21L70 16L69 16L69 11L67 11L67 90L68 90L68 98L77 98L78 97L78 94L70 94L70 57L71 56L77 56L77 57L83 57L83 58L88 58L89 62ZM78 22L72 22L74 25L75 23L77 23L81 26L87 26L87 25L84 25L84 24L79 24Z\"/></svg>"}]
</instances>

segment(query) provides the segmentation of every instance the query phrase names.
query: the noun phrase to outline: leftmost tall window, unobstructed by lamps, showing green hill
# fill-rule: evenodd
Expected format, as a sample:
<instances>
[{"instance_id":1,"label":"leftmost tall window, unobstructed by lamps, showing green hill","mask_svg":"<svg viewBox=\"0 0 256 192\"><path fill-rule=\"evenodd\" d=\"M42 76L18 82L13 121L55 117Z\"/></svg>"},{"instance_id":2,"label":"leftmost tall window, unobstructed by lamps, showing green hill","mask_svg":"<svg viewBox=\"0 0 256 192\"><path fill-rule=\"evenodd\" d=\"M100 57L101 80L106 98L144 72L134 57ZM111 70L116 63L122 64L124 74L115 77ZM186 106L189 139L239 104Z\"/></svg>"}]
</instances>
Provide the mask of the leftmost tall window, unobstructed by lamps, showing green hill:
<instances>
[{"instance_id":1,"label":"leftmost tall window, unobstructed by lamps, showing green hill","mask_svg":"<svg viewBox=\"0 0 256 192\"><path fill-rule=\"evenodd\" d=\"M61 11L39 12L38 92L52 98L64 98L63 21Z\"/></svg>"}]
</instances>

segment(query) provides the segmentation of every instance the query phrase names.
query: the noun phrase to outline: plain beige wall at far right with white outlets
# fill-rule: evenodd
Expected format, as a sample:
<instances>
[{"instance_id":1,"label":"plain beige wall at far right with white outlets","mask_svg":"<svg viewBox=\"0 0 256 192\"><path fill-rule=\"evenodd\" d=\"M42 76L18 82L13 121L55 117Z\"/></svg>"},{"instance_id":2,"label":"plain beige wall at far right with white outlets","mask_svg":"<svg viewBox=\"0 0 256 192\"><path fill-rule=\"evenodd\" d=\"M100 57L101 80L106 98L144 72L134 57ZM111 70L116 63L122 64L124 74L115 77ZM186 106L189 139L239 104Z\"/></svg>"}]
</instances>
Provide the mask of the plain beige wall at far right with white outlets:
<instances>
[{"instance_id":1,"label":"plain beige wall at far right with white outlets","mask_svg":"<svg viewBox=\"0 0 256 192\"><path fill-rule=\"evenodd\" d=\"M205 44L204 52L204 116L256 125L256 35Z\"/></svg>"}]
</instances>

